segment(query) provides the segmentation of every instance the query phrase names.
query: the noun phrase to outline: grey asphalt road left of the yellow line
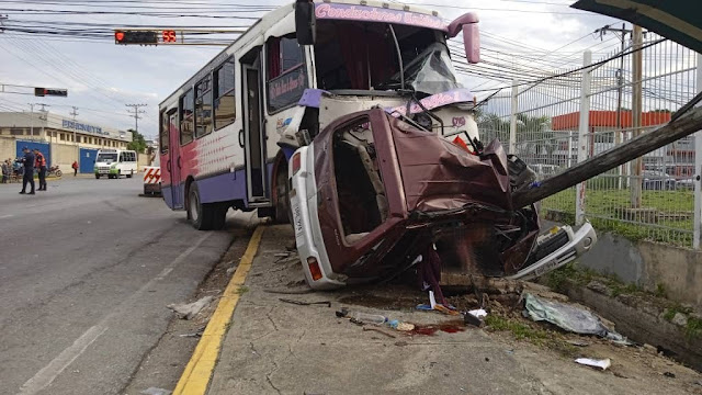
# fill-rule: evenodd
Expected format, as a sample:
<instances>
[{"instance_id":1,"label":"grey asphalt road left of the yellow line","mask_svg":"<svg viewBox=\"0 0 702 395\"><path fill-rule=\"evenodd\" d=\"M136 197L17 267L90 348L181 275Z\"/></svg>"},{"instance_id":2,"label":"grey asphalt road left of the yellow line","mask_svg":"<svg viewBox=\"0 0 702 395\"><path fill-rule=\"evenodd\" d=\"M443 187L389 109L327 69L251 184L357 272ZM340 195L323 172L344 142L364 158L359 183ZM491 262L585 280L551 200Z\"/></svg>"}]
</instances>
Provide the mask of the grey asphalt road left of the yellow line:
<instances>
[{"instance_id":1,"label":"grey asphalt road left of the yellow line","mask_svg":"<svg viewBox=\"0 0 702 395\"><path fill-rule=\"evenodd\" d=\"M0 184L0 394L118 394L230 245L135 179Z\"/></svg>"}]
</instances>

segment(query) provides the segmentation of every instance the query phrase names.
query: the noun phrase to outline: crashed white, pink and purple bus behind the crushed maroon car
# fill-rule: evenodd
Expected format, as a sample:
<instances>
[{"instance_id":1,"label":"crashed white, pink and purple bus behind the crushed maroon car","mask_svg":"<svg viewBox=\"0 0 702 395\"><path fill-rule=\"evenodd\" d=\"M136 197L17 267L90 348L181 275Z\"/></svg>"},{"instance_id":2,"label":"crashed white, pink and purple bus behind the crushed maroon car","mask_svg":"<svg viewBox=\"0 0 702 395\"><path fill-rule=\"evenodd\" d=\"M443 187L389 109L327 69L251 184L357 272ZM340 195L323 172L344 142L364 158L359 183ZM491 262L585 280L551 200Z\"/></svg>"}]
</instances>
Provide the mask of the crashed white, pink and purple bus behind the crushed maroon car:
<instances>
[{"instance_id":1,"label":"crashed white, pink and purple bus behind the crushed maroon car","mask_svg":"<svg viewBox=\"0 0 702 395\"><path fill-rule=\"evenodd\" d=\"M203 230L222 228L230 207L288 222L293 153L339 116L376 106L472 142L475 97L448 40L462 33L477 63L477 23L374 0L267 13L160 103L166 204Z\"/></svg>"}]
</instances>

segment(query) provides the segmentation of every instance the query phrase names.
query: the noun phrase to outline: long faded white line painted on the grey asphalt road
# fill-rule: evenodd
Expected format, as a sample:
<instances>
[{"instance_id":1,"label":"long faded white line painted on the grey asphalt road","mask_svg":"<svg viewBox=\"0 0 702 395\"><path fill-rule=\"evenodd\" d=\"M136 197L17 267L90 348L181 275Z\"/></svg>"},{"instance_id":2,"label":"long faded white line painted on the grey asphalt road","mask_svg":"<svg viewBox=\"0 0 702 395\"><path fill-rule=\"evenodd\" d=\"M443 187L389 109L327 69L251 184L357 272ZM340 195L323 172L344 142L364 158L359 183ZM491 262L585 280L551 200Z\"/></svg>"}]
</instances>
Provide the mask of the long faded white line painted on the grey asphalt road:
<instances>
[{"instance_id":1,"label":"long faded white line painted on the grey asphalt road","mask_svg":"<svg viewBox=\"0 0 702 395\"><path fill-rule=\"evenodd\" d=\"M173 259L161 272L149 280L144 286L141 286L138 291L129 295L129 297L125 298L112 313L107 314L104 318L98 323L98 325L91 327L86 330L73 343L61 351L52 362L49 362L46 366L42 368L32 379L27 380L22 387L20 388L19 395L31 395L36 394L47 386L49 386L56 377L58 377L61 372L68 368L80 354L82 354L88 347L95 341L100 335L104 334L109 326L107 323L110 319L115 317L116 315L127 311L127 307L134 304L144 293L154 287L154 285L163 280L168 273L173 271L173 269L182 262L189 255L191 255L200 245L202 245L210 236L212 236L212 232L206 233L202 236L194 245L190 248L181 252L176 259Z\"/></svg>"}]
</instances>

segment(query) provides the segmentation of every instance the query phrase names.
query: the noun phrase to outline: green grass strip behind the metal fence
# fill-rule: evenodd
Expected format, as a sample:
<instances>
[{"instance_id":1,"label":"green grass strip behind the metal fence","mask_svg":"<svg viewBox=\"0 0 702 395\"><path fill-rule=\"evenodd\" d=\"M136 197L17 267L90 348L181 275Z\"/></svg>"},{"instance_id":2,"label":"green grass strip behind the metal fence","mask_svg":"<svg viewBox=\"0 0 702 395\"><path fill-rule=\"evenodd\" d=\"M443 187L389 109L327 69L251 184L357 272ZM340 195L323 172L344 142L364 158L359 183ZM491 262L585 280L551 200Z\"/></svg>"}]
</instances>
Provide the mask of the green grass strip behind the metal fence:
<instances>
[{"instance_id":1,"label":"green grass strip behind the metal fence","mask_svg":"<svg viewBox=\"0 0 702 395\"><path fill-rule=\"evenodd\" d=\"M629 190L612 189L613 185L607 185L610 189L601 189L605 185L591 187L593 188L587 189L585 213L598 230L613 232L631 240L648 239L686 247L692 244L692 216L679 219L660 218L657 224L627 222L621 210L631 206ZM642 191L642 205L656 208L660 214L691 213L694 206L693 192L645 190ZM557 221L574 223L575 188L544 199L542 208Z\"/></svg>"}]
</instances>

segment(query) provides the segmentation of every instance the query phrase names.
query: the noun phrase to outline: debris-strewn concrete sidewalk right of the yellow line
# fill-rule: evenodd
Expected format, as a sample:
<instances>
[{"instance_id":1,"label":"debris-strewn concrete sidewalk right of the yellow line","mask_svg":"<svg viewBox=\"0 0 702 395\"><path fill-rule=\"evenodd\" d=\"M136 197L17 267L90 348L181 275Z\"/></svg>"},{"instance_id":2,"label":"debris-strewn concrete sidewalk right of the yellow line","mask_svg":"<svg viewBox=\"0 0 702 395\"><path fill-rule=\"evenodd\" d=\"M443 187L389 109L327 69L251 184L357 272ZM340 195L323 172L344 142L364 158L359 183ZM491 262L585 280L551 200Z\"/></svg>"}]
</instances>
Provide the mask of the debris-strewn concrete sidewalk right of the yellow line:
<instances>
[{"instance_id":1,"label":"debris-strewn concrete sidewalk right of the yellow line","mask_svg":"<svg viewBox=\"0 0 702 395\"><path fill-rule=\"evenodd\" d=\"M208 394L702 393L702 385L695 392L693 383L700 375L693 371L653 353L591 338L584 339L592 345L582 352L612 358L610 370L580 366L550 349L474 327L432 336L388 329L395 338L363 330L337 318L335 312L344 306L415 324L455 323L455 318L407 308L424 302L423 295L410 291L414 296L400 300L384 292L387 285L301 293L307 286L299 261L294 255L280 257L292 240L290 226L265 229ZM280 298L330 301L331 308ZM664 372L677 379L663 376Z\"/></svg>"}]
</instances>

